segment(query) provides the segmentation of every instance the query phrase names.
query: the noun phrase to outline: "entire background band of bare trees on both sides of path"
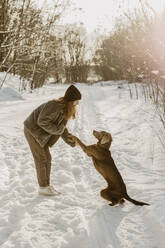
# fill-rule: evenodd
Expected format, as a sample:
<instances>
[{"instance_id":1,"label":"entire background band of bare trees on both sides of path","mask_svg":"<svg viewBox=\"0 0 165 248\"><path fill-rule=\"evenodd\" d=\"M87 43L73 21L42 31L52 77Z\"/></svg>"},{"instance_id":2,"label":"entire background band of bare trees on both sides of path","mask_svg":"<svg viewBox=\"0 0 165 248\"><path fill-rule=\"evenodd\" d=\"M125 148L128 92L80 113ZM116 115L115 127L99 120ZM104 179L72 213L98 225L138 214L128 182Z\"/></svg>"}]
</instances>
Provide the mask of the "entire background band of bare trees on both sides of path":
<instances>
[{"instance_id":1,"label":"entire background band of bare trees on both sides of path","mask_svg":"<svg viewBox=\"0 0 165 248\"><path fill-rule=\"evenodd\" d=\"M165 15L158 17L146 1L139 0L138 9L123 13L110 34L98 38L93 56L82 26L59 25L69 0L52 2L49 12L31 0L0 2L0 71L19 75L22 88L28 81L33 90L49 78L88 82L93 72L102 80L134 82L163 71Z\"/></svg>"}]
</instances>

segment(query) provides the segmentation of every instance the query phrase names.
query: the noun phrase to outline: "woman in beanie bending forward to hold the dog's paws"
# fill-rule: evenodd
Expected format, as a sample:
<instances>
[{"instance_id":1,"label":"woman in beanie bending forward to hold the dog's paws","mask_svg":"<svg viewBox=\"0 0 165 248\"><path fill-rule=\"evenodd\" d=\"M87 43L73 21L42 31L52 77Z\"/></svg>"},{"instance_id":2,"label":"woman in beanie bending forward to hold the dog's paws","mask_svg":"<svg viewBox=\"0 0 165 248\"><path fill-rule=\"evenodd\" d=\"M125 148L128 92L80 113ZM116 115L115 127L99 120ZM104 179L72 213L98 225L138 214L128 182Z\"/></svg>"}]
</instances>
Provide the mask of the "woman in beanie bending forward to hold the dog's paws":
<instances>
[{"instance_id":1,"label":"woman in beanie bending forward to hold the dog's paws","mask_svg":"<svg viewBox=\"0 0 165 248\"><path fill-rule=\"evenodd\" d=\"M49 147L52 147L59 137L68 145L75 146L75 141L72 134L68 132L66 124L69 119L75 119L76 106L80 99L80 91L71 85L64 97L40 105L24 121L24 134L34 158L39 194L52 196L58 193L53 186L50 186Z\"/></svg>"}]
</instances>

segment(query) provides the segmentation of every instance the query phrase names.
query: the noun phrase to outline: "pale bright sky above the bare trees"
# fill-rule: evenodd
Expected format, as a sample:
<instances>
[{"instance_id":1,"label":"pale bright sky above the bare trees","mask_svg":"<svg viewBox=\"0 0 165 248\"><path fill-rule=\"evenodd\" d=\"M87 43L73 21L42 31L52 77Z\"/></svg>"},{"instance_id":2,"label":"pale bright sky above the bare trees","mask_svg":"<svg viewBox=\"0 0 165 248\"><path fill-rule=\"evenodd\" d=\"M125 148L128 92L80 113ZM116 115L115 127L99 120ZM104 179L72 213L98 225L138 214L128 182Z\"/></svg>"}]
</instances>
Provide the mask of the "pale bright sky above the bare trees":
<instances>
[{"instance_id":1,"label":"pale bright sky above the bare trees","mask_svg":"<svg viewBox=\"0 0 165 248\"><path fill-rule=\"evenodd\" d=\"M51 6L51 1L46 0ZM45 4L45 0L40 0L39 3ZM142 0L144 1L144 0ZM146 0L153 9L160 13L165 5L164 0ZM77 8L81 8L81 11L69 11L64 16L64 22L74 23L82 22L88 32L92 32L98 27L105 30L110 30L114 23L114 18L119 16L120 11L133 9L139 4L139 0L72 0L73 4ZM120 2L122 3L122 9L119 9Z\"/></svg>"}]
</instances>

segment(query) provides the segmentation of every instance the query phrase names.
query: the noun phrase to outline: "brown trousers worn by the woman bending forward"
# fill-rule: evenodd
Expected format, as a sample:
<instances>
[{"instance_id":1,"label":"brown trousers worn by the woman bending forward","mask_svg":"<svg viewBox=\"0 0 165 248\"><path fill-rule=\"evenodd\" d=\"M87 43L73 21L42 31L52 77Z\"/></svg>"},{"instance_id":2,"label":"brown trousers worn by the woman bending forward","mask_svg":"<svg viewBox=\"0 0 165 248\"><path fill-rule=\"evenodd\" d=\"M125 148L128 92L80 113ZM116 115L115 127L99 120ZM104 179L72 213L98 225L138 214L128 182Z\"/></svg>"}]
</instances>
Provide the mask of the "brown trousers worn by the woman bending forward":
<instances>
[{"instance_id":1,"label":"brown trousers worn by the woman bending forward","mask_svg":"<svg viewBox=\"0 0 165 248\"><path fill-rule=\"evenodd\" d=\"M45 147L41 147L26 127L24 128L24 134L34 158L38 184L40 187L49 186L51 171L51 154L49 147L47 145Z\"/></svg>"}]
</instances>

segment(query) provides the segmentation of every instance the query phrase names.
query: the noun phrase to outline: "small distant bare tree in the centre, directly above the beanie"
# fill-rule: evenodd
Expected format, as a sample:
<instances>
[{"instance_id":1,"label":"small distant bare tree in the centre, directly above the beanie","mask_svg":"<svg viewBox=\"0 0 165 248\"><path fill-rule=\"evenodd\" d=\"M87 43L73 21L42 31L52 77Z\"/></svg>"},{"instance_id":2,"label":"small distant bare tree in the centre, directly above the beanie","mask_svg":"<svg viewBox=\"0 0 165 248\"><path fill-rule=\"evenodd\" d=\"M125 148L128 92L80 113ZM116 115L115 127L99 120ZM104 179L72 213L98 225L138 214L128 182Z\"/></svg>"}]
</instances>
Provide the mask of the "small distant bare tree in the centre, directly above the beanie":
<instances>
[{"instance_id":1,"label":"small distant bare tree in the centre, directly above the beanie","mask_svg":"<svg viewBox=\"0 0 165 248\"><path fill-rule=\"evenodd\" d=\"M87 59L86 31L84 28L70 26L63 38L63 63L67 82L86 82L89 72Z\"/></svg>"}]
</instances>

